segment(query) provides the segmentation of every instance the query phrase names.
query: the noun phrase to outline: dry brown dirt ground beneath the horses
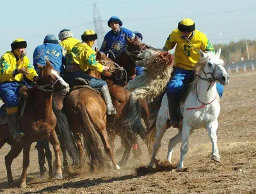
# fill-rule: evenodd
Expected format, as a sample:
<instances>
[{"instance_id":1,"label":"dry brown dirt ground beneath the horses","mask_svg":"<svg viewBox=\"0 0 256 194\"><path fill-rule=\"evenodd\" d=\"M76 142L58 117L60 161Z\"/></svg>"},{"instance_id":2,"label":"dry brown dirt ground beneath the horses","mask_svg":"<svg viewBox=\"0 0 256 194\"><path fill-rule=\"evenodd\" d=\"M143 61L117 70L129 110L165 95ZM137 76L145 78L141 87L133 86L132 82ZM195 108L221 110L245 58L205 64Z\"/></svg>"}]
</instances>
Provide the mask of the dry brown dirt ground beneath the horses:
<instances>
[{"instance_id":1,"label":"dry brown dirt ground beneath the horses","mask_svg":"<svg viewBox=\"0 0 256 194\"><path fill-rule=\"evenodd\" d=\"M189 151L184 160L188 172L175 170L136 175L135 168L148 165L147 147L140 141L140 160L129 158L121 170L106 170L100 174L84 173L61 181L40 178L36 149L31 149L27 188L20 189L22 154L13 161L15 184L8 186L4 156L10 147L0 150L1 193L256 193L256 72L232 73L225 86L218 119L218 147L221 163L211 158L211 140L207 131L197 130L189 138ZM170 128L162 140L157 158L166 158L168 141L177 131ZM120 141L116 140L116 147ZM33 145L35 147L35 145ZM180 144L173 153L179 161ZM118 159L120 158L117 157Z\"/></svg>"}]
</instances>

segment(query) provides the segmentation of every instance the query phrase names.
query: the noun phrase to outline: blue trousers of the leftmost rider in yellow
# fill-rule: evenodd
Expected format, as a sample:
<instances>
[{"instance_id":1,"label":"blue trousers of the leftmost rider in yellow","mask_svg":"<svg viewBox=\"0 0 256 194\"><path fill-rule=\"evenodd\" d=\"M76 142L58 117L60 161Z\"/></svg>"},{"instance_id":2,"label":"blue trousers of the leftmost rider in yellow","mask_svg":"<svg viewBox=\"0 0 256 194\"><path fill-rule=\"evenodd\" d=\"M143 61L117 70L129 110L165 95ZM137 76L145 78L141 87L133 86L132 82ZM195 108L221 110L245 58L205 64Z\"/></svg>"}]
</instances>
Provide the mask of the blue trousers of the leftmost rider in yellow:
<instances>
[{"instance_id":1,"label":"blue trousers of the leftmost rider in yellow","mask_svg":"<svg viewBox=\"0 0 256 194\"><path fill-rule=\"evenodd\" d=\"M0 85L0 98L2 98L6 107L18 107L20 86L28 85L26 81L20 82L3 82Z\"/></svg>"}]
</instances>

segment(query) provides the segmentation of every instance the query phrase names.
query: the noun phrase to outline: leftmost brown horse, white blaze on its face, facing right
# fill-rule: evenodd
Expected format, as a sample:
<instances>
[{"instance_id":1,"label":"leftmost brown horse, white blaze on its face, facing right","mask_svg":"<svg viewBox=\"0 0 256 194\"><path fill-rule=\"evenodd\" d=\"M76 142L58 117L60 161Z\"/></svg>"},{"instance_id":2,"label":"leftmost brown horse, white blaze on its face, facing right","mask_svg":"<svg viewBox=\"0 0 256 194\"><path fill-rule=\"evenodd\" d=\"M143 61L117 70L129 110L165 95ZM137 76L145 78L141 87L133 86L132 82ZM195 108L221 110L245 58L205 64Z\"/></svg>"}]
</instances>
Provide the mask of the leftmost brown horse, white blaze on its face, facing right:
<instances>
[{"instance_id":1,"label":"leftmost brown horse, white blaze on its face, facing right","mask_svg":"<svg viewBox=\"0 0 256 194\"><path fill-rule=\"evenodd\" d=\"M63 94L67 93L69 86L52 68L51 64L39 66L39 77L37 84L29 89L28 101L23 116L19 124L26 134L22 139L22 145L18 144L10 136L8 124L1 126L0 148L5 142L11 144L11 151L5 156L8 183L13 182L11 165L14 158L19 156L23 148L23 170L20 178L20 187L26 187L26 174L29 166L29 152L33 142L38 140L49 140L54 148L56 158L56 179L62 179L60 162L60 145L56 132L56 117L52 112L52 91L60 90Z\"/></svg>"}]
</instances>

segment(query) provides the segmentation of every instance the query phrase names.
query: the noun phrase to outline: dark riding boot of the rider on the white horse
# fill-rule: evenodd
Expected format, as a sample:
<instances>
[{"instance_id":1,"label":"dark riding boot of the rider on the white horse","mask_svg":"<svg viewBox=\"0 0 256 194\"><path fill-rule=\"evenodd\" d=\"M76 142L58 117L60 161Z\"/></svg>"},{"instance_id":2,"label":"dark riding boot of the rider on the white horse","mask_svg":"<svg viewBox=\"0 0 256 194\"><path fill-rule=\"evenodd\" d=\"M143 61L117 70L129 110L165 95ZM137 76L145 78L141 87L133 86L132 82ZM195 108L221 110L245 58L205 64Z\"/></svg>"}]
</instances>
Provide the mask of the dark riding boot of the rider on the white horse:
<instances>
[{"instance_id":1,"label":"dark riding boot of the rider on the white horse","mask_svg":"<svg viewBox=\"0 0 256 194\"><path fill-rule=\"evenodd\" d=\"M179 114L178 114L178 108L179 108L179 102L180 97L179 96L172 96L167 95L168 97L168 107L169 107L169 114L170 114L170 124L174 128L177 128L179 126Z\"/></svg>"}]
</instances>

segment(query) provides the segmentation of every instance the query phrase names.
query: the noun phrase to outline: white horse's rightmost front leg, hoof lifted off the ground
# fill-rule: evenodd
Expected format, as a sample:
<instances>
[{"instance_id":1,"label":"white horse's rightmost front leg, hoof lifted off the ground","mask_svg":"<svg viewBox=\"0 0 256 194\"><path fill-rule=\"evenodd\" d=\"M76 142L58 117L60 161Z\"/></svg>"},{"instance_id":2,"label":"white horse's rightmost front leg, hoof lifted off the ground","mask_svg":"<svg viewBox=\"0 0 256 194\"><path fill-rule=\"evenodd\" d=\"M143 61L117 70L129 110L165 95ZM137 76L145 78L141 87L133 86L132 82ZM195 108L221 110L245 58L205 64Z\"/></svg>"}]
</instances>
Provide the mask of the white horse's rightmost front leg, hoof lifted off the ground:
<instances>
[{"instance_id":1,"label":"white horse's rightmost front leg, hoof lifted off the ground","mask_svg":"<svg viewBox=\"0 0 256 194\"><path fill-rule=\"evenodd\" d=\"M216 131L218 128L218 121L205 124L205 128L207 129L212 142L211 160L220 162L220 154L217 146L217 135L216 135Z\"/></svg>"}]
</instances>

